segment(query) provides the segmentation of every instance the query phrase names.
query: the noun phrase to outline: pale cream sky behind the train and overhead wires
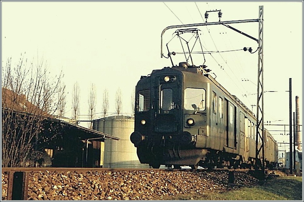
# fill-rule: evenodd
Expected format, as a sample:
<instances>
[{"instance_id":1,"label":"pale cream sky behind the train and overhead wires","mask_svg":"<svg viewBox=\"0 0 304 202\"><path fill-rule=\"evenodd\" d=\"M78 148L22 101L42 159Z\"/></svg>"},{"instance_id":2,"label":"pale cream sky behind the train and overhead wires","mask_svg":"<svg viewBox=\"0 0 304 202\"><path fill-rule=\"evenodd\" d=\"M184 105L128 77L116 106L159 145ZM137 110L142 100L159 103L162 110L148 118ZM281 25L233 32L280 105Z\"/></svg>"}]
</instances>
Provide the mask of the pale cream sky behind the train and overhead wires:
<instances>
[{"instance_id":1,"label":"pale cream sky behind the train and overhead wires","mask_svg":"<svg viewBox=\"0 0 304 202\"><path fill-rule=\"evenodd\" d=\"M96 113L102 112L102 94L106 88L109 90L109 112L115 113L115 93L119 87L123 92L122 113L131 114L131 93L140 76L150 74L153 69L171 66L170 59L160 58L160 35L165 27L202 23L201 15L204 17L205 11L215 9L221 9L221 21L257 19L260 5L264 6L264 90L279 91L264 94L264 120L289 124L289 94L284 91L289 90L289 78L292 78L292 112L295 111L295 96L299 96L302 121L302 1L196 4L2 1L1 57L2 61L7 57L18 59L21 52L26 52L29 59L36 59L38 55L47 60L54 74L62 69L68 91L67 117L72 116L71 92L76 81L81 85L81 119L88 119L85 115L88 114L91 82L97 87ZM209 15L208 22L213 21L218 21L217 13ZM256 22L230 25L258 38ZM238 50L243 47L252 47L255 51L258 46L254 40L223 25L197 28L202 31L202 44L208 51ZM164 44L175 31L169 29L165 32ZM169 48L171 44L172 51L176 51L180 43L171 41ZM165 46L163 48L166 50ZM167 54L166 51L164 53ZM233 51L214 53L212 56L214 58L206 55L206 65L217 76L216 80L248 108L256 105L257 53ZM182 55L173 59L175 64L185 60ZM196 65L203 62L202 57L194 61ZM256 113L255 107L253 112ZM96 117L100 117L100 114L96 114ZM87 123L82 125L87 126ZM283 126L265 128L283 130ZM289 131L289 127L286 130ZM287 136L275 135L284 132L272 133L278 142L289 141Z\"/></svg>"}]
</instances>

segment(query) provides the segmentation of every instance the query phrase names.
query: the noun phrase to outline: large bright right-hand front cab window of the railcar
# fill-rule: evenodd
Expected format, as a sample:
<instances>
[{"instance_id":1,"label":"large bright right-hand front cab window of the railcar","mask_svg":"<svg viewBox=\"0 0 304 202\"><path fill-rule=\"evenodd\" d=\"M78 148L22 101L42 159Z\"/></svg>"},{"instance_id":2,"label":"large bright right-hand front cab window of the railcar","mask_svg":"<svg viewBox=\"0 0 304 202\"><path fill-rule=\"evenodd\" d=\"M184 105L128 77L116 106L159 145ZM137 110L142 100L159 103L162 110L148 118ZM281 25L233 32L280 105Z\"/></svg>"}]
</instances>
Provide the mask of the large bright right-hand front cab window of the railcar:
<instances>
[{"instance_id":1,"label":"large bright right-hand front cab window of the railcar","mask_svg":"<svg viewBox=\"0 0 304 202\"><path fill-rule=\"evenodd\" d=\"M184 108L187 110L204 111L206 108L205 89L186 88L184 95Z\"/></svg>"}]
</instances>

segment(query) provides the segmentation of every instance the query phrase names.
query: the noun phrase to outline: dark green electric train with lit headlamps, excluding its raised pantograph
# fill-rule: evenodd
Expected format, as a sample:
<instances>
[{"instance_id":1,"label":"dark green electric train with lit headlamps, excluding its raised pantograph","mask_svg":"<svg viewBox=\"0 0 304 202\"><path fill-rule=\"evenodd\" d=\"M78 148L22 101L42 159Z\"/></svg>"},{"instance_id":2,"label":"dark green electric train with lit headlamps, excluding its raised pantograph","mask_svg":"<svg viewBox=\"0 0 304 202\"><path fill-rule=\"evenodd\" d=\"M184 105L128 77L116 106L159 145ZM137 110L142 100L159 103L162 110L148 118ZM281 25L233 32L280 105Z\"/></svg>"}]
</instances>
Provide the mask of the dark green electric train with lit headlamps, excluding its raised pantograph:
<instances>
[{"instance_id":1,"label":"dark green electric train with lit headlamps, excluding its raised pantograph","mask_svg":"<svg viewBox=\"0 0 304 202\"><path fill-rule=\"evenodd\" d=\"M256 117L204 68L182 62L138 81L130 139L141 163L193 169L256 165ZM267 130L264 139L265 166L275 165L278 145Z\"/></svg>"}]
</instances>

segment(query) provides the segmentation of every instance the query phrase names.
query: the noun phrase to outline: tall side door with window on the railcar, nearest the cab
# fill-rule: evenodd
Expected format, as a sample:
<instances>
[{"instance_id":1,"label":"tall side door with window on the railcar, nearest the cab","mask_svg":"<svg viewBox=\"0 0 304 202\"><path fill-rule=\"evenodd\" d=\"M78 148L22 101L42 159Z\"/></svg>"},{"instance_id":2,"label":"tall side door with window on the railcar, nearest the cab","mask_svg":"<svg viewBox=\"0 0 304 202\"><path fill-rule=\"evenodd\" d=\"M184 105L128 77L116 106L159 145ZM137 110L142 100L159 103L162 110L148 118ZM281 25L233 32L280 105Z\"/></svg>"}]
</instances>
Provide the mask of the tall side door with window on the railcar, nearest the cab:
<instances>
[{"instance_id":1,"label":"tall side door with window on the railcar, nearest the cab","mask_svg":"<svg viewBox=\"0 0 304 202\"><path fill-rule=\"evenodd\" d=\"M225 105L227 106L227 126L226 126L226 145L227 147L237 148L237 125L236 125L236 107L225 99Z\"/></svg>"}]
</instances>

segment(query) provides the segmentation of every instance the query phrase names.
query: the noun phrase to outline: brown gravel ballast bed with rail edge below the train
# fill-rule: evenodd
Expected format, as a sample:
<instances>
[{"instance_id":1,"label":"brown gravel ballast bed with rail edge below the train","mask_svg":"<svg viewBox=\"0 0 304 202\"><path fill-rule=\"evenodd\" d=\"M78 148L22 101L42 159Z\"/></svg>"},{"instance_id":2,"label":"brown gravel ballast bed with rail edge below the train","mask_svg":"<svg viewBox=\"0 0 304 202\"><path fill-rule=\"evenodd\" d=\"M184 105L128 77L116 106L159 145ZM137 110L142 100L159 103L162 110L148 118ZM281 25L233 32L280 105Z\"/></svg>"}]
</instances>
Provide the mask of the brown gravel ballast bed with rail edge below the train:
<instances>
[{"instance_id":1,"label":"brown gravel ballast bed with rail edge below the train","mask_svg":"<svg viewBox=\"0 0 304 202\"><path fill-rule=\"evenodd\" d=\"M19 183L16 173L22 174ZM2 168L2 200L159 200L224 192L259 181L248 170L234 170L234 181L228 183L229 173L228 169ZM14 196L13 182L23 185L22 194Z\"/></svg>"}]
</instances>

